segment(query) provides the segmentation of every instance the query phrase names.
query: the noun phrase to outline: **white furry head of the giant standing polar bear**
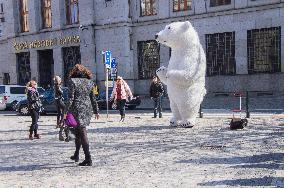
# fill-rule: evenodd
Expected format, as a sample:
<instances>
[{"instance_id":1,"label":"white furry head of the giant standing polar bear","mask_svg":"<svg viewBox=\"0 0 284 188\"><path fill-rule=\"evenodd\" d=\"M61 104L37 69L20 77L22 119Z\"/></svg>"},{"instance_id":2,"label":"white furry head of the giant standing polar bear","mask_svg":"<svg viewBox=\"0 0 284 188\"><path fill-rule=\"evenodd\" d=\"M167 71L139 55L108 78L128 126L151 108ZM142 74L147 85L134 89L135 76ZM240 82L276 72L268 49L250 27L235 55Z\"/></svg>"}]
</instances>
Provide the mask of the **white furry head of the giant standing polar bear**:
<instances>
[{"instance_id":1,"label":"white furry head of the giant standing polar bear","mask_svg":"<svg viewBox=\"0 0 284 188\"><path fill-rule=\"evenodd\" d=\"M199 37L189 21L173 22L155 36L157 42L171 48L186 48L199 44Z\"/></svg>"}]
</instances>

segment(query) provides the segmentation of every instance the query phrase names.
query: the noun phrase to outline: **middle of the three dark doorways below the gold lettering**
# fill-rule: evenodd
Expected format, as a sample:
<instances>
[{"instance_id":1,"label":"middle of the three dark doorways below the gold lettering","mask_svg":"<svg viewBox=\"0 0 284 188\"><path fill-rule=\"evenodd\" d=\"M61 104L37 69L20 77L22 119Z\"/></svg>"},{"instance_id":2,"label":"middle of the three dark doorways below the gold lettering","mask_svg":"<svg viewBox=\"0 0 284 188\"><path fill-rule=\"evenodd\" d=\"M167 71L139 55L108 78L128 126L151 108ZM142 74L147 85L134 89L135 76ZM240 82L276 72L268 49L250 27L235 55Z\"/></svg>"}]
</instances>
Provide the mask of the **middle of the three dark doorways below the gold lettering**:
<instances>
[{"instance_id":1,"label":"middle of the three dark doorways below the gold lettering","mask_svg":"<svg viewBox=\"0 0 284 188\"><path fill-rule=\"evenodd\" d=\"M54 76L54 61L52 50L39 50L39 86L49 89L52 86Z\"/></svg>"}]
</instances>

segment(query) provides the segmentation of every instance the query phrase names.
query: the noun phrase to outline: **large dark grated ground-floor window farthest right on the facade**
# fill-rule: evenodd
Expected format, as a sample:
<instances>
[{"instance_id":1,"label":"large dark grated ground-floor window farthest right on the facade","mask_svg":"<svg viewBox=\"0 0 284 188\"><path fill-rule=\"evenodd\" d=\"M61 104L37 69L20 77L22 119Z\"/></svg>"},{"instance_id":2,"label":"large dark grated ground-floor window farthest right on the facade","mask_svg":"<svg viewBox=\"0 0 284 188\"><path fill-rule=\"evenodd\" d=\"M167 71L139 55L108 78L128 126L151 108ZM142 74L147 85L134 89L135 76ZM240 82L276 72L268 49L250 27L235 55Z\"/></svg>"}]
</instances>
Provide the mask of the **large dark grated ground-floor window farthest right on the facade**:
<instances>
[{"instance_id":1,"label":"large dark grated ground-floor window farthest right on the facade","mask_svg":"<svg viewBox=\"0 0 284 188\"><path fill-rule=\"evenodd\" d=\"M281 28L248 31L248 73L281 71Z\"/></svg>"}]
</instances>

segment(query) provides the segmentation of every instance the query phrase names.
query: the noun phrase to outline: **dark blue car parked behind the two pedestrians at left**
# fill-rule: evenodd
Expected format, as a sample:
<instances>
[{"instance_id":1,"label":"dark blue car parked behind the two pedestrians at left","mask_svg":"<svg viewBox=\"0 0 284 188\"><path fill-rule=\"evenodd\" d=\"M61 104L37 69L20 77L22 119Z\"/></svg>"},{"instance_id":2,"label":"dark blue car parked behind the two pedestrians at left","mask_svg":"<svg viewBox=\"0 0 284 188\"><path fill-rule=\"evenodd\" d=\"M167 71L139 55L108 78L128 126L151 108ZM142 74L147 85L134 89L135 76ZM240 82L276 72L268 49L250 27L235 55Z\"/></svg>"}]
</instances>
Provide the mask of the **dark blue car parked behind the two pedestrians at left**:
<instances>
[{"instance_id":1,"label":"dark blue car parked behind the two pedestrians at left","mask_svg":"<svg viewBox=\"0 0 284 188\"><path fill-rule=\"evenodd\" d=\"M68 88L64 87L63 89L63 98L64 102L67 102L68 99ZM41 113L47 114L47 113L54 113L57 112L55 99L54 99L54 90L49 89L42 93L40 96L43 110ZM29 115L29 108L28 108L28 100L22 100L20 101L16 106L16 111L21 115Z\"/></svg>"}]
</instances>

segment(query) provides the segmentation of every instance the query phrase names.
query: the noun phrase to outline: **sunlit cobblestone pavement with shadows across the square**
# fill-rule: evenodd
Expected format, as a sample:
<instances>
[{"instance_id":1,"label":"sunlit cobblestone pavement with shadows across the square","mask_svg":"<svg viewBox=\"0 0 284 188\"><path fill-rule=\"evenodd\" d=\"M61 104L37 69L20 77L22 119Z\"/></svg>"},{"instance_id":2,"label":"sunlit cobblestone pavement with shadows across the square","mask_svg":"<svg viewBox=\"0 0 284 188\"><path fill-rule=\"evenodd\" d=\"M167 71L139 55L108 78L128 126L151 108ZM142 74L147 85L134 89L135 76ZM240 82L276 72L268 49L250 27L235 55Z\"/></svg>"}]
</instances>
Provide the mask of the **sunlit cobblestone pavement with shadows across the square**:
<instances>
[{"instance_id":1,"label":"sunlit cobblestone pavement with shadows across the square","mask_svg":"<svg viewBox=\"0 0 284 188\"><path fill-rule=\"evenodd\" d=\"M284 187L284 119L249 119L231 131L218 117L169 128L169 115L92 119L94 166L78 167L69 159L74 142L58 140L55 116L42 116L42 138L30 141L30 117L2 114L0 187Z\"/></svg>"}]
</instances>

